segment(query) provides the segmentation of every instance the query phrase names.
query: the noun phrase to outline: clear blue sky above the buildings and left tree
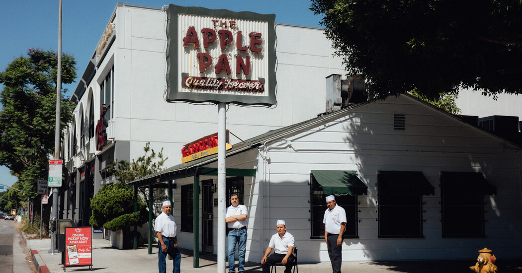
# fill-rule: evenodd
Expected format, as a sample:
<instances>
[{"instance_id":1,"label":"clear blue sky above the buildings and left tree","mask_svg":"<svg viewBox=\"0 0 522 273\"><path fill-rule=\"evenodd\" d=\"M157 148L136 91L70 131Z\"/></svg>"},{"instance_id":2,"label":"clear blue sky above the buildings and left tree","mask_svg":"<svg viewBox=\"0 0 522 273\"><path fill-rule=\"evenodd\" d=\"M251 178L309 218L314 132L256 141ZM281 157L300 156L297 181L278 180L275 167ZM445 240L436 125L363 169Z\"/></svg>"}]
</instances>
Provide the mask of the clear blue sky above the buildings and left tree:
<instances>
[{"instance_id":1,"label":"clear blue sky above the buildings and left tree","mask_svg":"<svg viewBox=\"0 0 522 273\"><path fill-rule=\"evenodd\" d=\"M78 75L81 76L96 44L109 22L118 1L63 1L62 52L76 57ZM200 6L210 9L253 11L276 14L276 22L300 26L319 26L320 16L309 9L307 0L177 0L177 1L120 1L126 4L158 7L175 4ZM30 47L58 50L58 0L2 0L0 2L0 71L4 71L14 58L25 55ZM63 86L70 95L76 83ZM0 85L0 90L3 86ZM6 167L0 166L0 183L12 185L16 178ZM5 191L0 190L0 191Z\"/></svg>"}]
</instances>

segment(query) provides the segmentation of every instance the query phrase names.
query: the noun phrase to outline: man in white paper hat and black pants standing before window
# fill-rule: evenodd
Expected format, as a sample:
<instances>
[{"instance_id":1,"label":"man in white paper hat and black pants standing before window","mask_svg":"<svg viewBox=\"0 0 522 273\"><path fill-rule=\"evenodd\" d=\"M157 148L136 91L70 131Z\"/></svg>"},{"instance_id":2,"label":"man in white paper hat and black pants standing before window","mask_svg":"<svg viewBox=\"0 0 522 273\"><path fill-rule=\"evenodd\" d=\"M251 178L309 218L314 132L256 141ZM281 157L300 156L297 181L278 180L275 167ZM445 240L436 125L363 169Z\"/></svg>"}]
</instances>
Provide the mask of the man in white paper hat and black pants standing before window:
<instances>
[{"instance_id":1,"label":"man in white paper hat and black pants standing before window","mask_svg":"<svg viewBox=\"0 0 522 273\"><path fill-rule=\"evenodd\" d=\"M342 234L346 229L345 209L337 205L334 195L326 196L326 206L323 224L325 224L325 241L328 246L331 269L334 273L341 272Z\"/></svg>"}]
</instances>

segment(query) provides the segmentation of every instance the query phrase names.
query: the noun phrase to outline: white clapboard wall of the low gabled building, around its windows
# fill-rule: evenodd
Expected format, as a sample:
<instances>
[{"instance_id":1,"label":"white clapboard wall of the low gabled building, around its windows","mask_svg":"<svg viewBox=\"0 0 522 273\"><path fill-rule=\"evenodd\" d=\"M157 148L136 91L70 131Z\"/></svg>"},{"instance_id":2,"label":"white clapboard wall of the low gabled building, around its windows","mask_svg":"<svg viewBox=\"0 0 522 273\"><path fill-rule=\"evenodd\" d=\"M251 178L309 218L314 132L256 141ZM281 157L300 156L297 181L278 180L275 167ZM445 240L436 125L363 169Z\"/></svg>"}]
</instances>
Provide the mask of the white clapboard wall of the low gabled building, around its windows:
<instances>
[{"instance_id":1,"label":"white clapboard wall of the low gabled building, around its windows","mask_svg":"<svg viewBox=\"0 0 522 273\"><path fill-rule=\"evenodd\" d=\"M405 131L394 131L394 113L406 115ZM269 163L258 171L269 193L262 197L270 221L265 233L275 232L277 219L287 220L303 261L329 260L324 240L309 239L314 169L355 170L368 187L368 195L358 197L359 238L345 240L343 260L466 258L484 246L522 256L513 243L522 240L520 148L412 98L389 98L304 126L266 149ZM376 184L383 170L422 171L435 188L435 195L422 196L423 238L377 238ZM441 171L482 172L497 187L495 196L484 197L486 238L442 238Z\"/></svg>"}]
</instances>

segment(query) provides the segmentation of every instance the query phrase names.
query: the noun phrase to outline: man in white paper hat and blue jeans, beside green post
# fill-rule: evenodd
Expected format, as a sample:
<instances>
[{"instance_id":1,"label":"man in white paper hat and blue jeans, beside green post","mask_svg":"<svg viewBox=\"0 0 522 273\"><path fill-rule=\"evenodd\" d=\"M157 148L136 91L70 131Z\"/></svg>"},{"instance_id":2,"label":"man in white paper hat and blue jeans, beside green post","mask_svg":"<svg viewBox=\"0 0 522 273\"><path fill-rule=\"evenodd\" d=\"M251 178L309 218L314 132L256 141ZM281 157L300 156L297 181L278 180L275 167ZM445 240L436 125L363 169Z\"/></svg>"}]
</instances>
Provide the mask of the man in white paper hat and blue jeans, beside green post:
<instances>
[{"instance_id":1,"label":"man in white paper hat and blue jeans, beside green post","mask_svg":"<svg viewBox=\"0 0 522 273\"><path fill-rule=\"evenodd\" d=\"M181 254L177 249L177 226L174 216L170 214L170 201L163 201L163 212L156 217L156 235L158 236L158 269L159 273L167 272L165 257L169 254L174 260L173 273L180 273Z\"/></svg>"}]
</instances>

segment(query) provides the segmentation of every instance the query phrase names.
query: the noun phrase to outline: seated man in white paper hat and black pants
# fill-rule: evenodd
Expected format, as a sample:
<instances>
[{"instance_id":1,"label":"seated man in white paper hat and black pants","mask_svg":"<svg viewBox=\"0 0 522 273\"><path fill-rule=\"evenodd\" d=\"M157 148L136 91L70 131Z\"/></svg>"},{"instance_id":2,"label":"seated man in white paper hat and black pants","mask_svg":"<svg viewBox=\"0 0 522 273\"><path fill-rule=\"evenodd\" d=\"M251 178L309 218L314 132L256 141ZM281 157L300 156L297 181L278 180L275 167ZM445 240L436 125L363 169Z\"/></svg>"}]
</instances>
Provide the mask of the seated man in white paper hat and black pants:
<instances>
[{"instance_id":1,"label":"seated man in white paper hat and black pants","mask_svg":"<svg viewBox=\"0 0 522 273\"><path fill-rule=\"evenodd\" d=\"M294 256L292 251L294 248L293 235L287 232L286 222L284 220L277 220L276 222L277 233L272 235L270 243L265 251L265 256L261 259L261 265L263 266L263 273L270 272L270 266L276 263L286 265L284 273L291 273ZM268 256L274 249L274 254ZM268 257L267 257L268 256Z\"/></svg>"}]
</instances>

